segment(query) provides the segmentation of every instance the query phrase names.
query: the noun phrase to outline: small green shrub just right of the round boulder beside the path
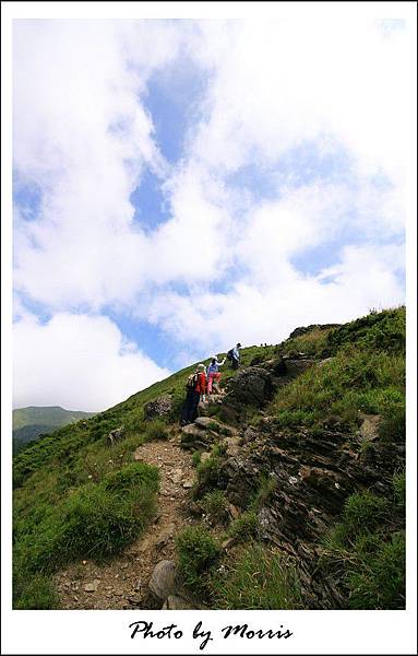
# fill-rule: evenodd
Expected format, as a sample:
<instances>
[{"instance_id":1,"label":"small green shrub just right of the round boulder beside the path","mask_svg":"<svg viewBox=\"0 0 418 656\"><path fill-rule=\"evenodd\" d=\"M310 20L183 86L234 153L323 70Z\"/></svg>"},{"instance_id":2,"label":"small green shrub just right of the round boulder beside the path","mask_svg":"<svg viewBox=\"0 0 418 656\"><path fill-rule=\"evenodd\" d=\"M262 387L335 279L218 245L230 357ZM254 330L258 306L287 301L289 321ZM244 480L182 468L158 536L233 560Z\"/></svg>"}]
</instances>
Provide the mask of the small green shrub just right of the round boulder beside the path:
<instances>
[{"instance_id":1,"label":"small green shrub just right of the round boulder beside the path","mask_svg":"<svg viewBox=\"0 0 418 656\"><path fill-rule=\"evenodd\" d=\"M207 529L191 526L177 537L176 547L186 585L207 595L207 573L220 555L219 544Z\"/></svg>"}]
</instances>

